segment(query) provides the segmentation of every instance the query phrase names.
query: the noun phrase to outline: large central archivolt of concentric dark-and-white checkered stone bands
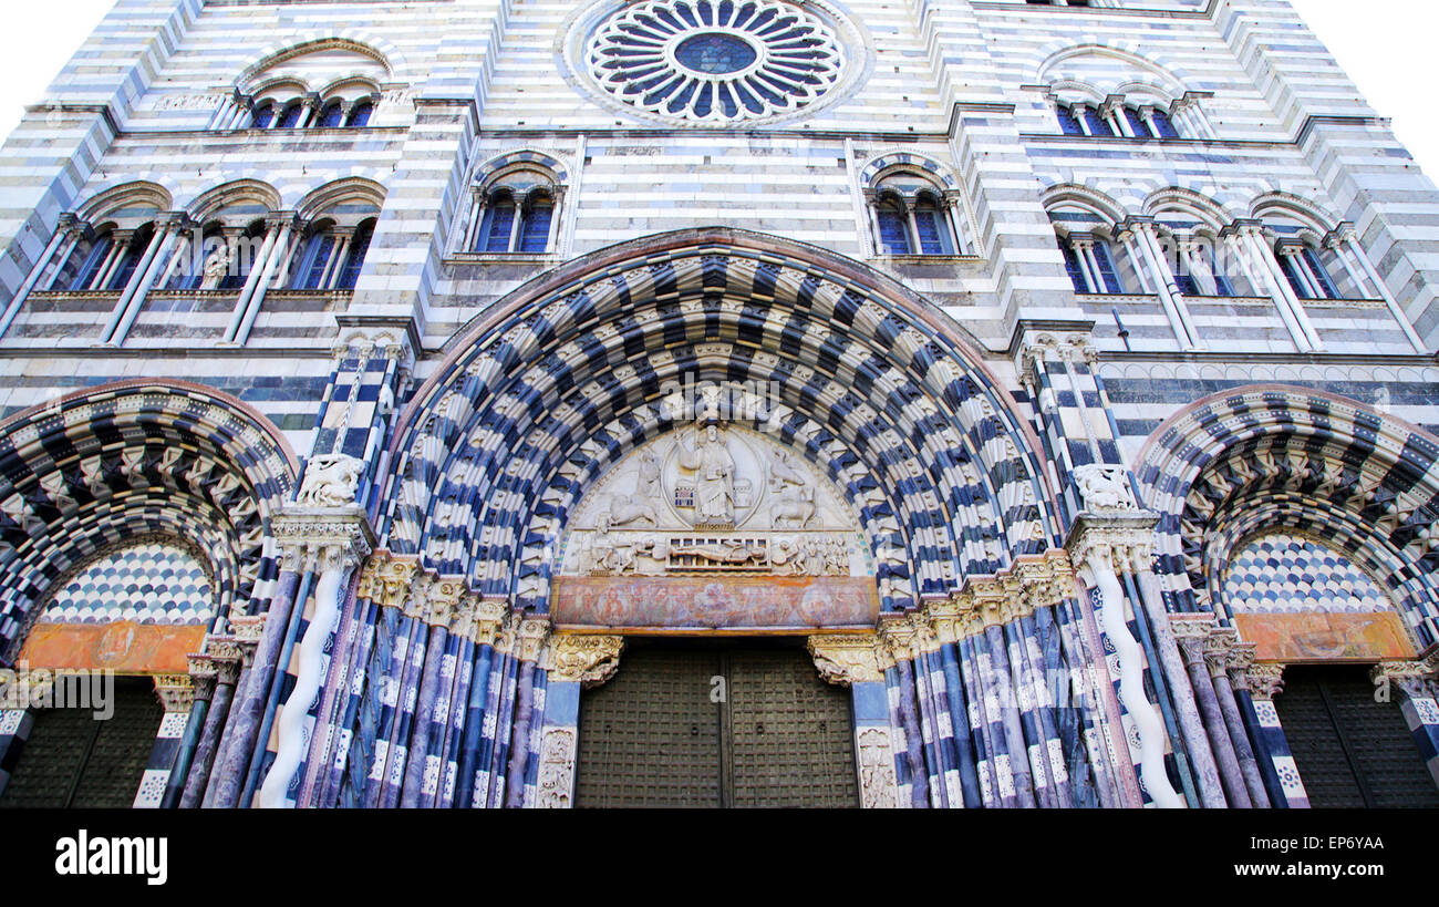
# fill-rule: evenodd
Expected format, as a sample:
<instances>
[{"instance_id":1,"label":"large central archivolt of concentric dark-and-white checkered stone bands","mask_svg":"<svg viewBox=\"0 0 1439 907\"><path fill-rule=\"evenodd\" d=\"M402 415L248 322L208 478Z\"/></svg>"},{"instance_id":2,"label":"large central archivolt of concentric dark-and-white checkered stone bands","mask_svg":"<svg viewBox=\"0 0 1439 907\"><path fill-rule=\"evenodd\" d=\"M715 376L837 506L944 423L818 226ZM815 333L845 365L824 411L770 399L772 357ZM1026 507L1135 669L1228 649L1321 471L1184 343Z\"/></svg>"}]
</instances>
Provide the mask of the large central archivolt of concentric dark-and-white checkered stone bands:
<instances>
[{"instance_id":1,"label":"large central archivolt of concentric dark-and-white checkered stone bands","mask_svg":"<svg viewBox=\"0 0 1439 907\"><path fill-rule=\"evenodd\" d=\"M720 229L625 243L452 348L400 422L381 534L485 593L543 606L574 502L669 428L655 405L686 376L774 382L781 441L846 491L876 560L904 550L911 595L1056 541L1013 402L927 302L833 253Z\"/></svg>"}]
</instances>

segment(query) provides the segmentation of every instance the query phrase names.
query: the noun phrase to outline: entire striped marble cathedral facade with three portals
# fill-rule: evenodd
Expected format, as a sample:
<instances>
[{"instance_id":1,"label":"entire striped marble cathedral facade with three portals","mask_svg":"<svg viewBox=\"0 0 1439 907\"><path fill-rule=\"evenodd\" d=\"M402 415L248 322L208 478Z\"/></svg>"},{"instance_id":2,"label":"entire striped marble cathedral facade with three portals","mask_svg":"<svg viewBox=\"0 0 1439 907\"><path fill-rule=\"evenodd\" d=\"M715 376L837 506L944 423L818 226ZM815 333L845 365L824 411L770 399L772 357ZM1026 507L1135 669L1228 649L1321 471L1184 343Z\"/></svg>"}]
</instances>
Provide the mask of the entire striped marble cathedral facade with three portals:
<instances>
[{"instance_id":1,"label":"entire striped marble cathedral facade with three portals","mask_svg":"<svg viewBox=\"0 0 1439 907\"><path fill-rule=\"evenodd\" d=\"M1284 0L119 0L0 158L0 806L1439 805Z\"/></svg>"}]
</instances>

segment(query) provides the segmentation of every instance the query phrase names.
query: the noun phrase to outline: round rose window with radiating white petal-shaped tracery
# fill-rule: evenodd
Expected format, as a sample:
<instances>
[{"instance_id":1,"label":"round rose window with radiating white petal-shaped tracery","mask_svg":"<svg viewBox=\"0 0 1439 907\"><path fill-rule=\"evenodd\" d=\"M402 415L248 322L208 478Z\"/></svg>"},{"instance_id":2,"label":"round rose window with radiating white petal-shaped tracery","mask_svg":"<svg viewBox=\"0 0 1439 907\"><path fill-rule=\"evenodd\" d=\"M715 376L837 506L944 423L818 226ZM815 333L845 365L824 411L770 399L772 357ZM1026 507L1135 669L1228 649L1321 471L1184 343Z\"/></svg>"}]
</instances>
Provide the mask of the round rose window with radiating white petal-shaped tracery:
<instances>
[{"instance_id":1,"label":"round rose window with radiating white petal-shaped tracery","mask_svg":"<svg viewBox=\"0 0 1439 907\"><path fill-rule=\"evenodd\" d=\"M840 79L843 49L813 13L777 0L649 0L603 20L590 72L650 114L725 124L793 114Z\"/></svg>"}]
</instances>

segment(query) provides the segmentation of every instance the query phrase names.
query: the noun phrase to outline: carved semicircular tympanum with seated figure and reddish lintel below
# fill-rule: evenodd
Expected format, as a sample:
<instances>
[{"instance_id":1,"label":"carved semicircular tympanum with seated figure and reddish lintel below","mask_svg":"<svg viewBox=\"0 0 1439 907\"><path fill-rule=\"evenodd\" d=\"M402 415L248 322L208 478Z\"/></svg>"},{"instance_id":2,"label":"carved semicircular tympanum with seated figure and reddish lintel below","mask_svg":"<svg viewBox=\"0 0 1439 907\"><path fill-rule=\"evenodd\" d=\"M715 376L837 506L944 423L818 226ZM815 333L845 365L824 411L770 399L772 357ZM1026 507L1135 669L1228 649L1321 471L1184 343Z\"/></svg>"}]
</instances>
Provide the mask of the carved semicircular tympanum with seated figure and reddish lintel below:
<instances>
[{"instance_id":1,"label":"carved semicircular tympanum with seated figure and reddish lintel below","mask_svg":"<svg viewBox=\"0 0 1439 907\"><path fill-rule=\"evenodd\" d=\"M656 438L590 488L564 537L551 615L568 626L873 626L873 563L832 484L764 435L718 422Z\"/></svg>"}]
</instances>

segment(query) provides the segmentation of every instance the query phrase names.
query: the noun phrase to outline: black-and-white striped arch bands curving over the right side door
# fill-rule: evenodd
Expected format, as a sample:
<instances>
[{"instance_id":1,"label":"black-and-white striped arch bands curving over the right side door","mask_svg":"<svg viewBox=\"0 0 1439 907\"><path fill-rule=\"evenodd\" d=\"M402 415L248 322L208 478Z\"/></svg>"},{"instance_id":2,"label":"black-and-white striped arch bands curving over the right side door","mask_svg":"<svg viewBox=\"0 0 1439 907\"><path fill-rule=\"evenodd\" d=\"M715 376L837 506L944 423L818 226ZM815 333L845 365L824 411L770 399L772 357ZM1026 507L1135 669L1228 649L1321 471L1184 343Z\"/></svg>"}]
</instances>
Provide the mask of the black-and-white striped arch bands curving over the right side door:
<instances>
[{"instance_id":1,"label":"black-and-white striped arch bands curving over the right side door","mask_svg":"<svg viewBox=\"0 0 1439 907\"><path fill-rule=\"evenodd\" d=\"M1150 436L1137 471L1161 514L1157 570L1170 608L1212 609L1212 580L1235 546L1286 527L1383 577L1420 646L1433 644L1436 458L1427 432L1334 394L1262 386L1199 400Z\"/></svg>"}]
</instances>

